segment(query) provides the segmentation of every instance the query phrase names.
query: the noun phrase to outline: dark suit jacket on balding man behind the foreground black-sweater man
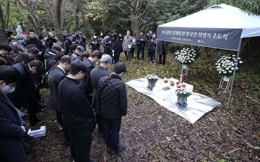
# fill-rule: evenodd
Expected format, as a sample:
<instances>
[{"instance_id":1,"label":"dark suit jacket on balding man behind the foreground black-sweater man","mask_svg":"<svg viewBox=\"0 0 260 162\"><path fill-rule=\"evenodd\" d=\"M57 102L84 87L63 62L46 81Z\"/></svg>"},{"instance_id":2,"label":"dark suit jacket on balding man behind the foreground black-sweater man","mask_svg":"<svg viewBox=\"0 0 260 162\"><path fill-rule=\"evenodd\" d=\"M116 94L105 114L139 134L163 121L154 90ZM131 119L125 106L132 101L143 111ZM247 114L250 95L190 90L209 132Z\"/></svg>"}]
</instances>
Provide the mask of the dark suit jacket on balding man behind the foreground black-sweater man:
<instances>
[{"instance_id":1,"label":"dark suit jacket on balding man behind the foreground black-sweater man","mask_svg":"<svg viewBox=\"0 0 260 162\"><path fill-rule=\"evenodd\" d=\"M63 80L65 77L66 77L66 74L58 66L51 73L51 85L52 85L53 94L54 94L54 108L56 110L58 110L59 112L61 111L61 103L59 100L58 86L59 86L61 80ZM66 95L69 96L69 91L67 91Z\"/></svg>"}]
</instances>

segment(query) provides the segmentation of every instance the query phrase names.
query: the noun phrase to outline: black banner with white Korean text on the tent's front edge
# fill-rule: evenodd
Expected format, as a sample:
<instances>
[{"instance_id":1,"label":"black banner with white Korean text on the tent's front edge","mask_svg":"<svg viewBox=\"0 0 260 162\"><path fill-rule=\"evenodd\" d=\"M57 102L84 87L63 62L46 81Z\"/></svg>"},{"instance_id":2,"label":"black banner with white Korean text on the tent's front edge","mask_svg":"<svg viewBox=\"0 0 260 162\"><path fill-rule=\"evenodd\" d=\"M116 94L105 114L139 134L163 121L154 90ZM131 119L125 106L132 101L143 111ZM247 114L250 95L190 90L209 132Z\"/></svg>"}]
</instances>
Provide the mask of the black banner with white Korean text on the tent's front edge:
<instances>
[{"instance_id":1,"label":"black banner with white Korean text on the tent's front edge","mask_svg":"<svg viewBox=\"0 0 260 162\"><path fill-rule=\"evenodd\" d=\"M238 50L243 29L157 27L157 39L198 46Z\"/></svg>"}]
</instances>

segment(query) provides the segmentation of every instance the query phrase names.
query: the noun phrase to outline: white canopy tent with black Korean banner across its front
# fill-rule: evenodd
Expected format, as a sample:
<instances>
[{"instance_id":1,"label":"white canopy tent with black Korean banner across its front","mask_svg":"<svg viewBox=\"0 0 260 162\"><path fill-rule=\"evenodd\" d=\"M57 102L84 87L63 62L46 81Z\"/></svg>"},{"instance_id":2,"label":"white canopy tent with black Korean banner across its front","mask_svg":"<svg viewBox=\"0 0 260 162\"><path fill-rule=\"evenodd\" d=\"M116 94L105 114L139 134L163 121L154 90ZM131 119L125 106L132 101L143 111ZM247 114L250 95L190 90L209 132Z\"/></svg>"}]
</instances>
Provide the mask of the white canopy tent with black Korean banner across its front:
<instances>
[{"instance_id":1,"label":"white canopy tent with black Korean banner across its front","mask_svg":"<svg viewBox=\"0 0 260 162\"><path fill-rule=\"evenodd\" d=\"M225 4L213 5L157 27L158 40L238 51L227 107L242 38L255 36L260 36L260 17Z\"/></svg>"}]
</instances>

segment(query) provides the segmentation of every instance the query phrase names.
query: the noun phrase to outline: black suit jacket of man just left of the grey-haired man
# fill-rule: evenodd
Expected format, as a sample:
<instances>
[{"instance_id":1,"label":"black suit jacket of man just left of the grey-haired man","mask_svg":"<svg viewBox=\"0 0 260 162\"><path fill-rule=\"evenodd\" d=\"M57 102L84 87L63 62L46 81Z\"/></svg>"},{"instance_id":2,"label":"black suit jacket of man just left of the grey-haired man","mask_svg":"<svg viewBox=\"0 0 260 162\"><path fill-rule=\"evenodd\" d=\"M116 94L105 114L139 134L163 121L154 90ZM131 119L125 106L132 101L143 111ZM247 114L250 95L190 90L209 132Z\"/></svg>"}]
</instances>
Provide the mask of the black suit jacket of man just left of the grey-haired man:
<instances>
[{"instance_id":1,"label":"black suit jacket of man just left of the grey-haired man","mask_svg":"<svg viewBox=\"0 0 260 162\"><path fill-rule=\"evenodd\" d=\"M90 76L90 72L92 69L95 68L94 64L92 63L91 60L89 60L88 58L86 60L83 61L84 64L86 64L87 66L87 74L85 74L82 82L85 82L85 91L86 94L92 94L93 93L93 88L92 88L92 84L91 84L91 76ZM84 88L83 88L84 89Z\"/></svg>"}]
</instances>

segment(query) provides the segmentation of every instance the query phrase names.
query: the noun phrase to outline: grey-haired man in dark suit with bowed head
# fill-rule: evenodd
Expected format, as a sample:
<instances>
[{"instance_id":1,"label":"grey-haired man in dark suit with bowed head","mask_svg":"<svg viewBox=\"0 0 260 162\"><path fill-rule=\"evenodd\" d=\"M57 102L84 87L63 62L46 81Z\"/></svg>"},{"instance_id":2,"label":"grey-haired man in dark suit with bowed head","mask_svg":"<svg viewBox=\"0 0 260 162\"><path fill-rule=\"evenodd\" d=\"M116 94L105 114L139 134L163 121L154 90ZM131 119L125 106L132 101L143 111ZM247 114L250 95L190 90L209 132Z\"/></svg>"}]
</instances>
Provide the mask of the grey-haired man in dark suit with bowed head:
<instances>
[{"instance_id":1,"label":"grey-haired man in dark suit with bowed head","mask_svg":"<svg viewBox=\"0 0 260 162\"><path fill-rule=\"evenodd\" d=\"M98 100L97 97L97 85L100 78L109 75L110 73L107 71L111 64L112 58L108 54L103 54L100 60L100 66L94 68L90 72L91 83L93 86L93 93L92 93L92 107L95 109L95 116L98 126L99 133L103 132L104 129L104 118L101 113L101 101Z\"/></svg>"}]
</instances>

